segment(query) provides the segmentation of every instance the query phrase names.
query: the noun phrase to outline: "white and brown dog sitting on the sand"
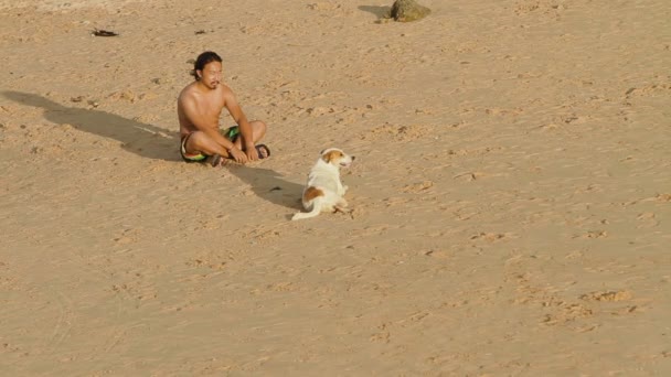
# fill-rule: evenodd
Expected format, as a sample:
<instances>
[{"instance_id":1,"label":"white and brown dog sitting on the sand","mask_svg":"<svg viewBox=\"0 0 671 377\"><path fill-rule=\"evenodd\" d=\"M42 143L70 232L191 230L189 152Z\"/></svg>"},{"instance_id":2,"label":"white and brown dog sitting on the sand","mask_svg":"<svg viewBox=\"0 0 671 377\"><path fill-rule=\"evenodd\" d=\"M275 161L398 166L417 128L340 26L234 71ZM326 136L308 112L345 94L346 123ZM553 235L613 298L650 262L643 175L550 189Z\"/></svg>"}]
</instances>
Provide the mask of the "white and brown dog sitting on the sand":
<instances>
[{"instance_id":1,"label":"white and brown dog sitting on the sand","mask_svg":"<svg viewBox=\"0 0 671 377\"><path fill-rule=\"evenodd\" d=\"M315 217L322 212L349 213L348 202L343 197L348 186L340 181L340 168L349 168L352 161L353 155L338 148L321 151L302 191L302 206L309 212L299 212L291 219Z\"/></svg>"}]
</instances>

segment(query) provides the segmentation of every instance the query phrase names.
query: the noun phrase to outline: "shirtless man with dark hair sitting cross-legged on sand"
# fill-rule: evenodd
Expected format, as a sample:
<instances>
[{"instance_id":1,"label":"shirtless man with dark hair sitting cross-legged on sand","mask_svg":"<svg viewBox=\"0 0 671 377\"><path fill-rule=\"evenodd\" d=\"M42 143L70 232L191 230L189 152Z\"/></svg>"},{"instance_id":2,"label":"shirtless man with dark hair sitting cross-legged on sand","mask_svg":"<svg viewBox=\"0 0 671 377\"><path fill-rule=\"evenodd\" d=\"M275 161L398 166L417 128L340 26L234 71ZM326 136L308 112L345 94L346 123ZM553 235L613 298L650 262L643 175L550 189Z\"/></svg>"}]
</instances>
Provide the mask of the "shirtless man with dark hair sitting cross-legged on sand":
<instances>
[{"instance_id":1,"label":"shirtless man with dark hair sitting cross-legged on sand","mask_svg":"<svg viewBox=\"0 0 671 377\"><path fill-rule=\"evenodd\" d=\"M222 58L211 51L200 54L192 74L195 80L182 89L177 103L182 159L220 166L224 159L246 163L269 157L268 147L255 146L266 133L266 123L247 120L231 88L222 83ZM236 126L220 130L224 107Z\"/></svg>"}]
</instances>

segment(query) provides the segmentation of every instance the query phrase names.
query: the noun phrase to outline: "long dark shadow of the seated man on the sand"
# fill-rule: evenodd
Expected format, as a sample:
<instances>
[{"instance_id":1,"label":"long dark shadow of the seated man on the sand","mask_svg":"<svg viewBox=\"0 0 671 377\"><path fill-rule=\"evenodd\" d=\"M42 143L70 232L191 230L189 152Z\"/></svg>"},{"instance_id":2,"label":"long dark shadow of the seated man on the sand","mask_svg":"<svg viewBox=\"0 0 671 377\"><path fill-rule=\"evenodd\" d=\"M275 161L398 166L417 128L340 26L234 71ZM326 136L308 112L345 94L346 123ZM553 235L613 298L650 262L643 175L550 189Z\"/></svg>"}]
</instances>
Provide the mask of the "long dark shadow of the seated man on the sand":
<instances>
[{"instance_id":1,"label":"long dark shadow of the seated man on the sand","mask_svg":"<svg viewBox=\"0 0 671 377\"><path fill-rule=\"evenodd\" d=\"M56 125L118 140L126 151L155 160L179 160L177 132L94 109L67 107L39 95L6 90L15 103L44 109L44 118Z\"/></svg>"}]
</instances>

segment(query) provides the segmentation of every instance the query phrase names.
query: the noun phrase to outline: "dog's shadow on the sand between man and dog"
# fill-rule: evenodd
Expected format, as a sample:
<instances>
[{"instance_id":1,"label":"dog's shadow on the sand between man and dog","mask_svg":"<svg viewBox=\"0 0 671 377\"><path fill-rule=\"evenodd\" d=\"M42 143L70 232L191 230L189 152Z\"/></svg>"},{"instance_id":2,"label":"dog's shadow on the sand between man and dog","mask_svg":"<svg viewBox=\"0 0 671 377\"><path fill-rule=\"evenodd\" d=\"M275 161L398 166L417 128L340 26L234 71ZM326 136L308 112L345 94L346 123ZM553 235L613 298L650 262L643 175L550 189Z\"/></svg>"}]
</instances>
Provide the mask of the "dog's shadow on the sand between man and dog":
<instances>
[{"instance_id":1,"label":"dog's shadow on the sand between man and dog","mask_svg":"<svg viewBox=\"0 0 671 377\"><path fill-rule=\"evenodd\" d=\"M232 165L228 171L252 186L252 191L258 197L292 209L292 213L302 209L300 197L303 186L301 184L289 182L270 169ZM290 218L292 213L287 216Z\"/></svg>"}]
</instances>

